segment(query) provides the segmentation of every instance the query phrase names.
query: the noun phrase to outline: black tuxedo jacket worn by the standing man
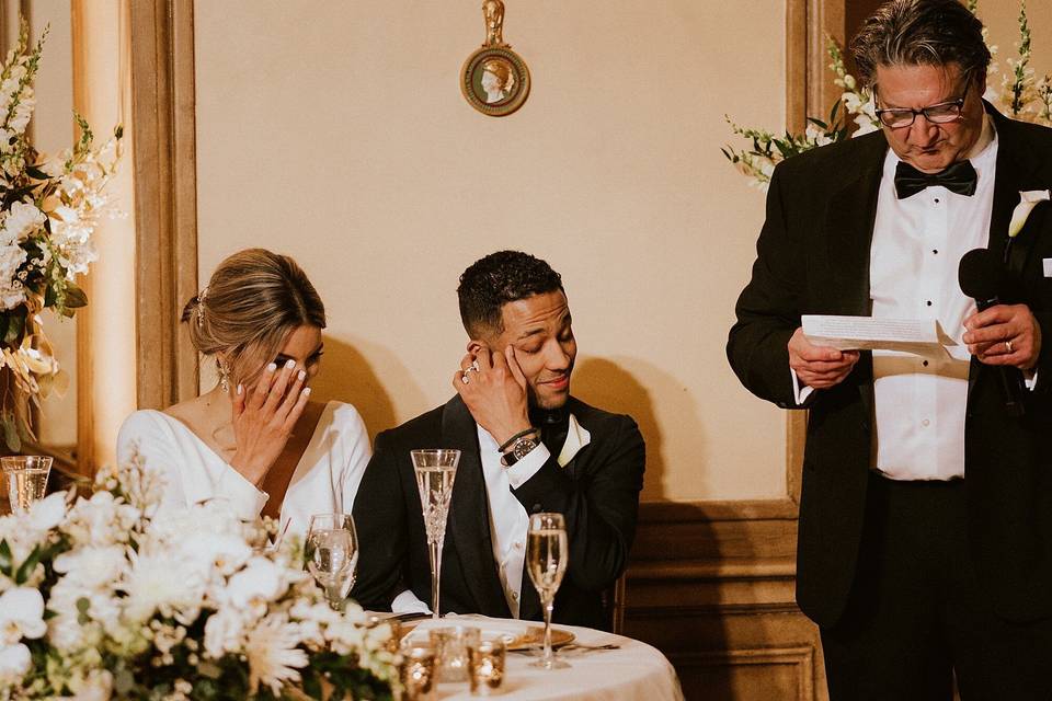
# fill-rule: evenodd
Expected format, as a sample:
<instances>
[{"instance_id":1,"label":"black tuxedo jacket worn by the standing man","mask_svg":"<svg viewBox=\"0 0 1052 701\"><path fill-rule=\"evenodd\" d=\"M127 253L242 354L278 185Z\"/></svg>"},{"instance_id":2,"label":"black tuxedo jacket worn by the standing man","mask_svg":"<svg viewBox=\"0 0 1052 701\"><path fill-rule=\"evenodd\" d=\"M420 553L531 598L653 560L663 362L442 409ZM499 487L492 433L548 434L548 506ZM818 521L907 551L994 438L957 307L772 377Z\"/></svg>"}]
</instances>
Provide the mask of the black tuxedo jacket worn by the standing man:
<instances>
[{"instance_id":1,"label":"black tuxedo jacket worn by the standing man","mask_svg":"<svg viewBox=\"0 0 1052 701\"><path fill-rule=\"evenodd\" d=\"M1020 191L1052 187L1052 130L987 105L998 151L988 246L1005 253ZM752 280L737 301L728 357L756 395L794 406L787 343L801 314L870 313L869 255L887 152L877 133L786 160L775 170ZM964 424L968 539L994 610L1052 614L1052 207L1031 212L1009 246L1015 299L1044 335L1027 415L1008 416L997 370L972 359ZM844 610L855 576L870 468L872 356L808 402L797 600L822 625Z\"/></svg>"}]
</instances>

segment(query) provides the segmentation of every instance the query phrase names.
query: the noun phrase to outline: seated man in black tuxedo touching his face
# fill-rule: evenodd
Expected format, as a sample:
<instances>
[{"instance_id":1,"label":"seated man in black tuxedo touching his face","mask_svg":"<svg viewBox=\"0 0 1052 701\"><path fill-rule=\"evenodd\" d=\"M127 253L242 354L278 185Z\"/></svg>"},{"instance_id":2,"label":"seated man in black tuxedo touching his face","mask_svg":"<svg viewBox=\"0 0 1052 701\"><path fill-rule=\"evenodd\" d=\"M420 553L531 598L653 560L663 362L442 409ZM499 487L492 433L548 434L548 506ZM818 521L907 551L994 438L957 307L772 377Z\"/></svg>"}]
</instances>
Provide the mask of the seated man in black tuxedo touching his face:
<instances>
[{"instance_id":1,"label":"seated man in black tuxedo touching his face","mask_svg":"<svg viewBox=\"0 0 1052 701\"><path fill-rule=\"evenodd\" d=\"M376 437L354 503L361 558L352 596L367 608L427 610L431 568L410 450L456 448L441 611L541 618L524 567L528 515L556 512L570 559L554 620L602 628L602 595L625 571L636 532L639 428L570 395L576 341L562 279L547 263L493 253L465 271L457 295L469 336L457 394Z\"/></svg>"}]
</instances>

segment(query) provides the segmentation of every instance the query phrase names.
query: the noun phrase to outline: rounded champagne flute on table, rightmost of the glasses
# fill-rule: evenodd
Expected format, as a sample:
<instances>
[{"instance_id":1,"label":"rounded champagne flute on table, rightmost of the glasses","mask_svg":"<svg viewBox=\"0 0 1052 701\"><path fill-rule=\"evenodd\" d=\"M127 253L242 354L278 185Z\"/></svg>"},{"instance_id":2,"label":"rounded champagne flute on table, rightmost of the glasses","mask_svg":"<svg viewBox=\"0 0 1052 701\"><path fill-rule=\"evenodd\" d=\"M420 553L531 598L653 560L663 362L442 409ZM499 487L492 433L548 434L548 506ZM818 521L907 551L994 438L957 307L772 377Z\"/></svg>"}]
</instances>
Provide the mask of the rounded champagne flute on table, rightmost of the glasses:
<instances>
[{"instance_id":1,"label":"rounded champagne flute on table, rightmost of the glasses","mask_svg":"<svg viewBox=\"0 0 1052 701\"><path fill-rule=\"evenodd\" d=\"M545 611L545 650L531 667L563 669L570 666L558 659L551 650L551 610L569 559L570 547L562 514L531 515L526 533L526 567Z\"/></svg>"}]
</instances>

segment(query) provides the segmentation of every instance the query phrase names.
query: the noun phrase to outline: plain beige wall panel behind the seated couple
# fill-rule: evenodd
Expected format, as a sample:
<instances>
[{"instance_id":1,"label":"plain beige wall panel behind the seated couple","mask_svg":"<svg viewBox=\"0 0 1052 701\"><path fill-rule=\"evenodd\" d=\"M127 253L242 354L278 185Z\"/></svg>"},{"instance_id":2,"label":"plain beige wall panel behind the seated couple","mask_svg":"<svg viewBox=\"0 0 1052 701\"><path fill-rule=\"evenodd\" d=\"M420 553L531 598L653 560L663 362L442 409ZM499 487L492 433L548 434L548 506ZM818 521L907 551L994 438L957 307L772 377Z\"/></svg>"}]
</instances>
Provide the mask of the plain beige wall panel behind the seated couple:
<instances>
[{"instance_id":1,"label":"plain beige wall panel behind the seated couple","mask_svg":"<svg viewBox=\"0 0 1052 701\"><path fill-rule=\"evenodd\" d=\"M296 256L330 312L321 394L375 433L451 394L464 267L534 252L574 392L642 426L645 497L782 495L784 417L723 355L763 197L719 151L724 113L784 123L782 2L506 4L534 89L498 119L457 87L481 2L197 2L202 275Z\"/></svg>"}]
</instances>

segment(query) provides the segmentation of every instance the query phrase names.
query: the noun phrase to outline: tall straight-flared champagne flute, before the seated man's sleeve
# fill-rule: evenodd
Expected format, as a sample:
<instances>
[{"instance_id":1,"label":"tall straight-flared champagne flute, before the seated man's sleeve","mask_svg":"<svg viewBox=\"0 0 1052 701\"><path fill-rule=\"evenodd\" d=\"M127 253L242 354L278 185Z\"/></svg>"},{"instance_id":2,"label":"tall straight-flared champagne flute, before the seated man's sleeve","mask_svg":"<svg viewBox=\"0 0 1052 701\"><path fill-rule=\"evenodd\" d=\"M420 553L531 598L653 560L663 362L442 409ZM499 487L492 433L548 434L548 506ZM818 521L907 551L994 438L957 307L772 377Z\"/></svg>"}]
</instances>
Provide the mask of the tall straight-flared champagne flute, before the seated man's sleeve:
<instances>
[{"instance_id":1,"label":"tall straight-flared champagne flute, before the seated man's sleeve","mask_svg":"<svg viewBox=\"0 0 1052 701\"><path fill-rule=\"evenodd\" d=\"M424 530L427 533L427 556L431 560L431 610L438 618L438 594L442 582L442 545L446 540L446 519L449 517L449 499L453 497L453 481L460 462L459 450L411 450L416 489L420 490L420 506L424 514Z\"/></svg>"}]
</instances>

